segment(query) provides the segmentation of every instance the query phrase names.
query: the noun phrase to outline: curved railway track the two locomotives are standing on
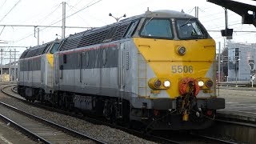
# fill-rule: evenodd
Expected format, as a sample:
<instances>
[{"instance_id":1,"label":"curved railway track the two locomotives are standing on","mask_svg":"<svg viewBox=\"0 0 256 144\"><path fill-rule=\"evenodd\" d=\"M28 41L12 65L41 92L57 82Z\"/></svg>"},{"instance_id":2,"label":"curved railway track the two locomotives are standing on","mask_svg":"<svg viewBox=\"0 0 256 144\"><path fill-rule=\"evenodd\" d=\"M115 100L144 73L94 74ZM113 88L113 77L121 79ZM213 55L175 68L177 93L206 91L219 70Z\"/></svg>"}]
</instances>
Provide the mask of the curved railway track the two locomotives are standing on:
<instances>
[{"instance_id":1,"label":"curved railway track the two locomotives are standing on","mask_svg":"<svg viewBox=\"0 0 256 144\"><path fill-rule=\"evenodd\" d=\"M7 91L4 90L5 88L10 87L10 86L13 86L12 91L13 91L13 93L16 93L16 94L10 94L10 92L7 92ZM145 134L145 133L142 133L141 131L138 131L138 130L130 130L129 128L126 128L126 127L123 127L123 126L112 125L109 122L103 122L103 121L95 120L94 118L85 118L84 116L78 115L78 114L70 114L70 112L66 112L64 110L58 110L58 109L55 109L55 108L52 108L52 107L49 107L49 106L44 106L44 105L41 105L38 102L34 102L34 103L27 102L24 98L22 98L21 96L19 96L17 94L17 91L15 89L16 88L15 88L14 85L3 86L2 87L2 92L5 93L5 94L10 95L13 98L18 98L19 100L22 100L23 102L26 102L29 105L38 106L40 108L55 111L55 112L58 112L58 113L61 113L61 114L70 115L72 117L80 118L80 119L86 120L87 122L92 122L94 124L100 124L100 125L106 125L106 126L114 127L116 129L126 131L129 134L134 134L134 135L136 135L140 138L145 138L145 139L153 141L153 142L158 142L158 143L187 143L187 142L198 143L199 142L199 143L230 143L230 144L235 143L235 142L228 142L228 141L225 141L225 140L222 140L222 139L219 139L219 138L211 138L211 137L208 137L208 136L205 136L205 135L202 135L202 134L194 134L194 133L189 133L189 134L186 133L186 135L183 135L182 138L177 138L176 136L175 136L175 138L173 138L172 136L165 136L165 137L156 136L154 133Z\"/></svg>"}]
</instances>

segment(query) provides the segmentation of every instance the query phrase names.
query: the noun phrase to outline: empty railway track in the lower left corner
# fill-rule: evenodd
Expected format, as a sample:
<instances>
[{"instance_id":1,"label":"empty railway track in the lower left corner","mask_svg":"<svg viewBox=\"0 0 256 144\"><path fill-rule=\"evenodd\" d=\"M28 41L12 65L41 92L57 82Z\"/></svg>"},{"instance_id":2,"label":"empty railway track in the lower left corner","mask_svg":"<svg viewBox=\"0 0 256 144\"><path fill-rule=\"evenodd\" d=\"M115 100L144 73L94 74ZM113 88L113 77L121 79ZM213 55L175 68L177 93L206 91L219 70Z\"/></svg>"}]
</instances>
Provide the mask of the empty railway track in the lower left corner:
<instances>
[{"instance_id":1,"label":"empty railway track in the lower left corner","mask_svg":"<svg viewBox=\"0 0 256 144\"><path fill-rule=\"evenodd\" d=\"M106 143L0 102L0 118L43 143Z\"/></svg>"}]
</instances>

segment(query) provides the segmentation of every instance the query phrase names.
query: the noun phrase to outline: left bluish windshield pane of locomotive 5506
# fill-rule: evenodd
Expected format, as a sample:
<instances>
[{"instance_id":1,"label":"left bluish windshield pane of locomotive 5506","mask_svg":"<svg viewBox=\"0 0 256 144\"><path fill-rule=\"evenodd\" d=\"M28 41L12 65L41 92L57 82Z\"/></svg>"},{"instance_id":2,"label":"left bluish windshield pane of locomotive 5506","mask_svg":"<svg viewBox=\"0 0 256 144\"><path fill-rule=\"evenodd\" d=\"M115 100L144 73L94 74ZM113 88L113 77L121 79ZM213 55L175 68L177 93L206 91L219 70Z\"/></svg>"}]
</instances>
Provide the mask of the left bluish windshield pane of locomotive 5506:
<instances>
[{"instance_id":1,"label":"left bluish windshield pane of locomotive 5506","mask_svg":"<svg viewBox=\"0 0 256 144\"><path fill-rule=\"evenodd\" d=\"M173 38L171 23L169 19L150 18L144 22L140 33L147 38Z\"/></svg>"}]
</instances>

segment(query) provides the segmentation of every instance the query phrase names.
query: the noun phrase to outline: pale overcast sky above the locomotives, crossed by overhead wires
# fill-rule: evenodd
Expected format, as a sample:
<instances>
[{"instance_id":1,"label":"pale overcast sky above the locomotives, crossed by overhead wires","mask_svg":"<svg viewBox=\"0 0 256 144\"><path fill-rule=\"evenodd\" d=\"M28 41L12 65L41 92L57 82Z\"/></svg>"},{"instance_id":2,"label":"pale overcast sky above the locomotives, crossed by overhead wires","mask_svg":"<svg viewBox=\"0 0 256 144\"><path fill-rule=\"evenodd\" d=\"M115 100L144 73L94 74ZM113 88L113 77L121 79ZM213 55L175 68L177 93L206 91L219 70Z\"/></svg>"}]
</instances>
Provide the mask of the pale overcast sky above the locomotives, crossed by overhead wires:
<instances>
[{"instance_id":1,"label":"pale overcast sky above the locomotives, crossed by overhead wires","mask_svg":"<svg viewBox=\"0 0 256 144\"><path fill-rule=\"evenodd\" d=\"M237 0L238 1L238 0ZM0 25L62 25L63 0L0 0ZM239 1L238 1L239 2ZM240 0L256 6L251 0ZM95 3L94 5L92 5ZM92 6L90 6L92 5ZM127 17L142 14L147 7L150 10L178 10L194 15L194 6L199 6L199 20L206 30L222 30L225 28L224 9L206 0L66 0L66 26L98 27L115 22L108 16L115 17L126 14ZM12 9L13 8L13 9ZM255 30L254 26L242 25L241 17L229 11L229 27L234 30ZM40 44L62 35L61 28L40 27ZM66 36L85 29L66 29ZM0 46L35 46L34 27L0 26L0 39L8 41ZM220 32L210 32L216 42L223 42ZM37 37L37 34L36 34ZM256 42L256 33L234 33L234 42ZM58 37L60 38L60 37ZM20 51L24 49L19 49Z\"/></svg>"}]
</instances>

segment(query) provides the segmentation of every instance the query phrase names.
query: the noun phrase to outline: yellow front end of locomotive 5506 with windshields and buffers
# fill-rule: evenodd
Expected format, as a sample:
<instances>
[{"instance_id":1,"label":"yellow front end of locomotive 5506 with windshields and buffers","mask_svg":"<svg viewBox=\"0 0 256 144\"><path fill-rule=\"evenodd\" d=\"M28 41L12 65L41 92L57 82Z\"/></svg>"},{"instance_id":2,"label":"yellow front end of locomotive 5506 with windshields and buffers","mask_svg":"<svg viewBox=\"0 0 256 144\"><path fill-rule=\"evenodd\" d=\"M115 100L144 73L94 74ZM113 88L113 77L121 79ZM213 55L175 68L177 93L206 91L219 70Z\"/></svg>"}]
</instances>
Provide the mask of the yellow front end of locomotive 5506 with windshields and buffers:
<instances>
[{"instance_id":1,"label":"yellow front end of locomotive 5506 with windshields and buffers","mask_svg":"<svg viewBox=\"0 0 256 144\"><path fill-rule=\"evenodd\" d=\"M174 11L146 12L134 38L146 62L150 114L154 129L202 129L225 107L215 92L215 42L190 15ZM138 67L138 79L141 66ZM140 80L138 80L140 85Z\"/></svg>"}]
</instances>

